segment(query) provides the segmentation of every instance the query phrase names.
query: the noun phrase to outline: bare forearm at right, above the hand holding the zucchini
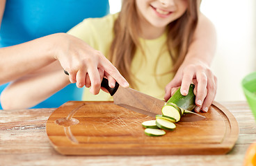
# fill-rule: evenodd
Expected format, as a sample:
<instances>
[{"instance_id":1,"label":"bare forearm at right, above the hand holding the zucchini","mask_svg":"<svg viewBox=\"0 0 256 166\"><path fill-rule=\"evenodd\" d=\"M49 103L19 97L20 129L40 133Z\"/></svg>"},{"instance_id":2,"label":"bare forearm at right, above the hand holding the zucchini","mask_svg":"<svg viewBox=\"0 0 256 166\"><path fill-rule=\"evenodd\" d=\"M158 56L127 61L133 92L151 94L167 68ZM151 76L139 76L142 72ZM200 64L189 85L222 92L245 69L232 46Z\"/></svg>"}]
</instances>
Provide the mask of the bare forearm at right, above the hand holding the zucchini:
<instances>
[{"instance_id":1,"label":"bare forearm at right, above the hand holding the zucchini","mask_svg":"<svg viewBox=\"0 0 256 166\"><path fill-rule=\"evenodd\" d=\"M216 30L205 15L200 13L198 26L193 35L193 41L189 46L188 53L184 59L185 66L191 62L202 62L211 65L216 51Z\"/></svg>"}]
</instances>

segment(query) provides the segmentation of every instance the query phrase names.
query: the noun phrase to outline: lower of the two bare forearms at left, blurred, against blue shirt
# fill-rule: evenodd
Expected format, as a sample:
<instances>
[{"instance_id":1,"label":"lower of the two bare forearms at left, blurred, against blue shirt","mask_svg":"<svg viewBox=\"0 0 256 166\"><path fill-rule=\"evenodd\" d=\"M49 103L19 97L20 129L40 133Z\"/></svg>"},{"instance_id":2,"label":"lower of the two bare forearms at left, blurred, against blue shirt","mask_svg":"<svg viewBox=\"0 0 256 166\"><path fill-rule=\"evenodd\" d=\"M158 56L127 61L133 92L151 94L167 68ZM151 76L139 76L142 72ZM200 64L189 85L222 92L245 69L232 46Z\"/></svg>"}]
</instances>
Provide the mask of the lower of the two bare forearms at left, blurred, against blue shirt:
<instances>
[{"instance_id":1,"label":"lower of the two bare forearms at left, blurred, against blue shirt","mask_svg":"<svg viewBox=\"0 0 256 166\"><path fill-rule=\"evenodd\" d=\"M25 109L49 98L69 84L62 70L27 75L12 82L1 93L3 109Z\"/></svg>"}]
</instances>

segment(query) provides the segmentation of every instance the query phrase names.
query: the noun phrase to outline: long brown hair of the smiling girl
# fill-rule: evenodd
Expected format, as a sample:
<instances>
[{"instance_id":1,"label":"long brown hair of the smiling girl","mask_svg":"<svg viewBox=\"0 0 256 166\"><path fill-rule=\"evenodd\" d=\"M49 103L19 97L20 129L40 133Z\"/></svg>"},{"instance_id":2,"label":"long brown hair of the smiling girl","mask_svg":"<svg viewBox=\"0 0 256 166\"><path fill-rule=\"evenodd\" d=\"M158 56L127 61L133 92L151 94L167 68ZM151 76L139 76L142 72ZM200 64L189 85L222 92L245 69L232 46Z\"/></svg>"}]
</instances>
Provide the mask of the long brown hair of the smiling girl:
<instances>
[{"instance_id":1,"label":"long brown hair of the smiling girl","mask_svg":"<svg viewBox=\"0 0 256 166\"><path fill-rule=\"evenodd\" d=\"M170 72L176 73L184 61L191 43L195 28L198 24L198 11L200 0L187 0L188 8L179 19L168 24L167 48L173 59L173 67ZM131 74L131 62L136 53L136 48L141 48L138 41L141 32L138 23L138 11L135 0L123 0L122 9L114 24L115 37L110 48L110 60L129 84L134 87L134 79ZM141 48L143 50L143 48Z\"/></svg>"}]
</instances>

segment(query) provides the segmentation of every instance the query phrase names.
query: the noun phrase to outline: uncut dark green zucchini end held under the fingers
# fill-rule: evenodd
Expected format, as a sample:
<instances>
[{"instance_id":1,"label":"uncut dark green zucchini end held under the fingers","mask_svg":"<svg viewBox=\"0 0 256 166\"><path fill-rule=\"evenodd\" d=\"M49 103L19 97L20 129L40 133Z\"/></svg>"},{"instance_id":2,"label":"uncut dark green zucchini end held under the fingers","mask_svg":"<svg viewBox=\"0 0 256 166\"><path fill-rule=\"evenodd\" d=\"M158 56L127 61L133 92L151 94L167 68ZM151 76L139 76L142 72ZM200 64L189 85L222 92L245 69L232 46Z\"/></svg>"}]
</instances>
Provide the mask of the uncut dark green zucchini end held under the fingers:
<instances>
[{"instance_id":1,"label":"uncut dark green zucchini end held under the fingers","mask_svg":"<svg viewBox=\"0 0 256 166\"><path fill-rule=\"evenodd\" d=\"M189 86L189 93L187 95L182 95L179 89L174 93L174 95L167 101L168 103L176 104L177 107L192 111L195 109L195 94L193 90L195 89L195 85L191 84Z\"/></svg>"}]
</instances>

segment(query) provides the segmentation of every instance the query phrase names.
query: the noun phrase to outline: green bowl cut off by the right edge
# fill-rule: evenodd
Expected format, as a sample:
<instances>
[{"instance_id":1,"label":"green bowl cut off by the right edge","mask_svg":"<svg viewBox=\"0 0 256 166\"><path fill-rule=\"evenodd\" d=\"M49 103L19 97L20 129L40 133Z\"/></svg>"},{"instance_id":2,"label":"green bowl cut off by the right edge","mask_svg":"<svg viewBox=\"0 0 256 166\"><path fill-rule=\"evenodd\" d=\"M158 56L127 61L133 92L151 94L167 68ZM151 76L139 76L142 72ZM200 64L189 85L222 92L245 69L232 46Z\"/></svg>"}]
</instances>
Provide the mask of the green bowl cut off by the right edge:
<instances>
[{"instance_id":1,"label":"green bowl cut off by the right edge","mask_svg":"<svg viewBox=\"0 0 256 166\"><path fill-rule=\"evenodd\" d=\"M250 73L243 78L242 87L250 110L253 111L256 120L256 72Z\"/></svg>"}]
</instances>

